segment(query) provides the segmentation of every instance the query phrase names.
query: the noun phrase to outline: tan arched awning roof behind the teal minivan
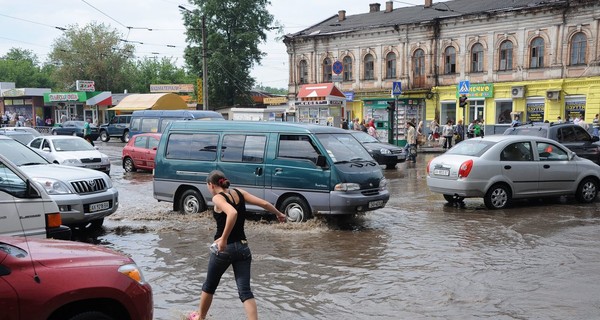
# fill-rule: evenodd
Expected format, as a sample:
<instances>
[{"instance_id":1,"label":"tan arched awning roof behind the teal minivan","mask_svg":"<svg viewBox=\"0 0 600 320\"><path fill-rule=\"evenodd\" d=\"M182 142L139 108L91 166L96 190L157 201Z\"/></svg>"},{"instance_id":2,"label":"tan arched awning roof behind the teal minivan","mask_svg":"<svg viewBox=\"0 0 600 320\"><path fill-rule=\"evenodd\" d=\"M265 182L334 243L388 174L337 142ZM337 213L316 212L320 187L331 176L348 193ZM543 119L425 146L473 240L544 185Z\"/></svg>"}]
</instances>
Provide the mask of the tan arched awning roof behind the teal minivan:
<instances>
[{"instance_id":1,"label":"tan arched awning roof behind the teal minivan","mask_svg":"<svg viewBox=\"0 0 600 320\"><path fill-rule=\"evenodd\" d=\"M186 102L174 93L140 93L123 98L118 105L108 110L178 110L188 109Z\"/></svg>"}]
</instances>

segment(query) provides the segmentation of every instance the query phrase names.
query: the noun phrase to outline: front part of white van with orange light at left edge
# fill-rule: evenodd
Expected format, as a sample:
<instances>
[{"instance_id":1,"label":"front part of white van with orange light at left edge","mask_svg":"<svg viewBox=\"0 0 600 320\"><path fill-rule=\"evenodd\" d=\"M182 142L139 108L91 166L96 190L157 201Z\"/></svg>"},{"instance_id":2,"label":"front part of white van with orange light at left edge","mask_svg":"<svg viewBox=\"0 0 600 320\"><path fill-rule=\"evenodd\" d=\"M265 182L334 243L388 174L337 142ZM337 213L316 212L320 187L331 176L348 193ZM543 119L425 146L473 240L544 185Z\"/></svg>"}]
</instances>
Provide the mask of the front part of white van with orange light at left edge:
<instances>
[{"instance_id":1,"label":"front part of white van with orange light at left edge","mask_svg":"<svg viewBox=\"0 0 600 320\"><path fill-rule=\"evenodd\" d=\"M0 155L0 235L69 240L56 202L16 165Z\"/></svg>"}]
</instances>

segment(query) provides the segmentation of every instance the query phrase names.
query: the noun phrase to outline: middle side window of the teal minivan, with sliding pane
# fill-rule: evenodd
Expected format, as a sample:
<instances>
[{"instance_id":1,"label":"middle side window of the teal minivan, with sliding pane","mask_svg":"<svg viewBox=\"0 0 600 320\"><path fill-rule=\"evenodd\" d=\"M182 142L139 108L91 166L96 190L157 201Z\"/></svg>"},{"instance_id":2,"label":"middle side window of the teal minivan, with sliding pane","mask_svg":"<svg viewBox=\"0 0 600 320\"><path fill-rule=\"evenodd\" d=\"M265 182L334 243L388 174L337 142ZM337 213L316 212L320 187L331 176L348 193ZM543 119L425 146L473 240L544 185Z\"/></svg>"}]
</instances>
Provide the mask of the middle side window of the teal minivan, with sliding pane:
<instances>
[{"instance_id":1,"label":"middle side window of the teal minivan, with sliding pane","mask_svg":"<svg viewBox=\"0 0 600 320\"><path fill-rule=\"evenodd\" d=\"M267 137L228 134L223 138L221 161L261 163L264 160Z\"/></svg>"}]
</instances>

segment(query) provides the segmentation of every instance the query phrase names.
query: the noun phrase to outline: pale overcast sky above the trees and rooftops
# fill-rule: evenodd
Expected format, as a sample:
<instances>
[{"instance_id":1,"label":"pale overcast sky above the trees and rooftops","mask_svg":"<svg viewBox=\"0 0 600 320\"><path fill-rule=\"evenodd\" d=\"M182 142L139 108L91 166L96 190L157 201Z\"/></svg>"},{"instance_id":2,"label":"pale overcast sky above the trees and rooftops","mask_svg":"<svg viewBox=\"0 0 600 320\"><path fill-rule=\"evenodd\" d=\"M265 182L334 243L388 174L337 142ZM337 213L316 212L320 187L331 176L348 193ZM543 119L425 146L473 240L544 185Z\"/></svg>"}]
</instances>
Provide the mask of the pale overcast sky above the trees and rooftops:
<instances>
[{"instance_id":1,"label":"pale overcast sky above the trees and rooftops","mask_svg":"<svg viewBox=\"0 0 600 320\"><path fill-rule=\"evenodd\" d=\"M366 13L369 4L376 2L383 10L386 1L271 0L268 9L284 26L284 34L288 34L319 23L339 10L346 10L346 15ZM424 2L394 1L394 8ZM121 32L123 38L134 42L137 56L172 57L178 60L178 65L183 65L185 28L179 5L193 9L187 0L0 0L0 56L17 47L32 50L45 62L52 44L62 33L55 27L74 24L83 27L97 21L110 25ZM276 37L270 33L267 43L261 45L267 56L261 66L252 70L252 76L257 84L287 88L288 57L285 45ZM3 81L2 75L0 81Z\"/></svg>"}]
</instances>

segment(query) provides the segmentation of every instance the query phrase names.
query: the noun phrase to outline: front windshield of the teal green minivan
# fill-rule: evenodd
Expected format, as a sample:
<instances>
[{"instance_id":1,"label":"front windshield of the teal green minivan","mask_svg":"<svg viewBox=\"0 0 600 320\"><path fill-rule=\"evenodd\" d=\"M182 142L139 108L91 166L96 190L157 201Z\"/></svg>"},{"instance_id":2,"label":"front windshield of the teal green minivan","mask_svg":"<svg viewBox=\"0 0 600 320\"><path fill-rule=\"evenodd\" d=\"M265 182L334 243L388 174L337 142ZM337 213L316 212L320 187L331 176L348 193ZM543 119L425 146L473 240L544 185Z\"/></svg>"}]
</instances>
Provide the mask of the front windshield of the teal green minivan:
<instances>
[{"instance_id":1,"label":"front windshield of the teal green minivan","mask_svg":"<svg viewBox=\"0 0 600 320\"><path fill-rule=\"evenodd\" d=\"M349 133L321 133L317 137L335 163L373 161L367 150Z\"/></svg>"}]
</instances>

